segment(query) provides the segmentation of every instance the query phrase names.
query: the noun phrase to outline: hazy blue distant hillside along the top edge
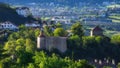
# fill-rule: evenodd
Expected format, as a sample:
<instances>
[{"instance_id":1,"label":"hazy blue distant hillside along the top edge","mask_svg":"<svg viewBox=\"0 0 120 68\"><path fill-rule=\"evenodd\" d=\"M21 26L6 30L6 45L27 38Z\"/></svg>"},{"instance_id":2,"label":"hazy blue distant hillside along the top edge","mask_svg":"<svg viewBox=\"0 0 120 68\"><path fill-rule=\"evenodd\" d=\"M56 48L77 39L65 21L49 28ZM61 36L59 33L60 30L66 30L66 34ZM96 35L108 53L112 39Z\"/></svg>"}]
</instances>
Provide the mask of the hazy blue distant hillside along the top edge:
<instances>
[{"instance_id":1,"label":"hazy blue distant hillside along the top edge","mask_svg":"<svg viewBox=\"0 0 120 68\"><path fill-rule=\"evenodd\" d=\"M31 3L31 2L35 2L35 3L50 3L50 2L54 2L56 4L63 4L63 5L77 5L80 2L85 2L85 3L102 3L102 2L118 2L120 0L0 0L0 2L7 2L7 3L20 3L20 4L25 4L25 3Z\"/></svg>"}]
</instances>

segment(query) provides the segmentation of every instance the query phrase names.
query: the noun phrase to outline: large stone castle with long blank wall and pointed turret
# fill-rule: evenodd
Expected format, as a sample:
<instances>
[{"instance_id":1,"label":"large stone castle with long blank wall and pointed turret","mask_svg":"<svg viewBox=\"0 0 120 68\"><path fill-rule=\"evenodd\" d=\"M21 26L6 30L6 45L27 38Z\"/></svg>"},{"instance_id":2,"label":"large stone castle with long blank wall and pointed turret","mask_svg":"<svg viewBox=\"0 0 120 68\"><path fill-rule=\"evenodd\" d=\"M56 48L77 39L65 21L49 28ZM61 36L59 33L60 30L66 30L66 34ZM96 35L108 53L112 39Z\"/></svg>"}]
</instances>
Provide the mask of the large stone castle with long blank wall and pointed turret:
<instances>
[{"instance_id":1,"label":"large stone castle with long blank wall and pointed turret","mask_svg":"<svg viewBox=\"0 0 120 68\"><path fill-rule=\"evenodd\" d=\"M37 48L49 51L58 49L60 52L64 53L67 50L66 40L66 37L46 37L42 31L37 38Z\"/></svg>"}]
</instances>

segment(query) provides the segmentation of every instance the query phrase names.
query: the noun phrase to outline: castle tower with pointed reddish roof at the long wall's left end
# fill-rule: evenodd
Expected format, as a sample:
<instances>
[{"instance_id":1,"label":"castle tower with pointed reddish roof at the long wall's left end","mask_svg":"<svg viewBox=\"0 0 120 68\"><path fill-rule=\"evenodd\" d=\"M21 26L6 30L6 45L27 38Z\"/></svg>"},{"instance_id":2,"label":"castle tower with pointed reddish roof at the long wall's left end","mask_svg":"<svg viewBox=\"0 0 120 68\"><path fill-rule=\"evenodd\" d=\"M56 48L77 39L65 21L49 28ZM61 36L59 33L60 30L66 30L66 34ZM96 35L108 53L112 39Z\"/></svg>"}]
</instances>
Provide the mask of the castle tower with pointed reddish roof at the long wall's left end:
<instances>
[{"instance_id":1,"label":"castle tower with pointed reddish roof at the long wall's left end","mask_svg":"<svg viewBox=\"0 0 120 68\"><path fill-rule=\"evenodd\" d=\"M37 37L37 48L38 49L45 49L46 48L45 35L44 35L43 31L41 31L40 35Z\"/></svg>"}]
</instances>

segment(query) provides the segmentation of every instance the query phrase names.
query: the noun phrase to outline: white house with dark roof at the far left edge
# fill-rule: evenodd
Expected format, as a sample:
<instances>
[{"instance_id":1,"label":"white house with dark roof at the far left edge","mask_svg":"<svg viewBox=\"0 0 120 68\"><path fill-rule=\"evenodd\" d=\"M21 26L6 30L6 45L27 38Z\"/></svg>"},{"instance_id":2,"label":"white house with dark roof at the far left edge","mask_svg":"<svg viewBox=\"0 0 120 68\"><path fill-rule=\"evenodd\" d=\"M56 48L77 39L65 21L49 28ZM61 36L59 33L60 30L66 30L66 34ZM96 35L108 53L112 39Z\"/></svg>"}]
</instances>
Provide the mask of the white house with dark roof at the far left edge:
<instances>
[{"instance_id":1,"label":"white house with dark roof at the far left edge","mask_svg":"<svg viewBox=\"0 0 120 68\"><path fill-rule=\"evenodd\" d=\"M0 23L0 29L16 30L18 27L10 21Z\"/></svg>"}]
</instances>

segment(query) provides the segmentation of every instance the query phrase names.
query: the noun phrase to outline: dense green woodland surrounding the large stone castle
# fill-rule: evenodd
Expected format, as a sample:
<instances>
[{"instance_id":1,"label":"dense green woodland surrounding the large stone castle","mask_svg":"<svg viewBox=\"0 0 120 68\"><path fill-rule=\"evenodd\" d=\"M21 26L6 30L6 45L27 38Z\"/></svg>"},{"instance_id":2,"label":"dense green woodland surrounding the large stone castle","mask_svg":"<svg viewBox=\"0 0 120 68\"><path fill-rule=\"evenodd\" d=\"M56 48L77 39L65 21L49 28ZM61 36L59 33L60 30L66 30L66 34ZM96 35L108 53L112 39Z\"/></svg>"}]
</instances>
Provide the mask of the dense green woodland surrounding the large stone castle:
<instances>
[{"instance_id":1,"label":"dense green woodland surrounding the large stone castle","mask_svg":"<svg viewBox=\"0 0 120 68\"><path fill-rule=\"evenodd\" d=\"M52 31L54 26L56 29ZM36 42L41 30L19 26L19 31L10 34L5 44L0 45L1 68L94 68L90 61L104 58L114 59L116 65L120 62L120 35L111 38L84 36L79 22L73 24L70 30L72 35L67 39L68 49L60 53L56 49L37 50ZM53 37L68 34L60 24L45 26L43 31L46 36Z\"/></svg>"}]
</instances>

